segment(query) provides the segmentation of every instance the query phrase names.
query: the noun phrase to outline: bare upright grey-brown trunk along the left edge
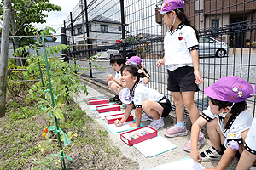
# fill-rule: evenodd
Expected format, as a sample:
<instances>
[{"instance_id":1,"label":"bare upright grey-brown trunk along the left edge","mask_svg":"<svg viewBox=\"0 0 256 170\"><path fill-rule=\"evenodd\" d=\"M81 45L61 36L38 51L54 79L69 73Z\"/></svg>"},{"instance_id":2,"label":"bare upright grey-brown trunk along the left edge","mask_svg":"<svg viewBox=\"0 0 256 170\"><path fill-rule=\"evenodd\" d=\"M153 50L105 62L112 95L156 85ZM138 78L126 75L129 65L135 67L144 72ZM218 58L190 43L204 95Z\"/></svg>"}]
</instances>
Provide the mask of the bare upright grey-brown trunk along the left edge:
<instances>
[{"instance_id":1,"label":"bare upright grey-brown trunk along the left edge","mask_svg":"<svg viewBox=\"0 0 256 170\"><path fill-rule=\"evenodd\" d=\"M5 116L7 69L9 51L9 20L11 0L4 0L3 30L0 54L0 117Z\"/></svg>"}]
</instances>

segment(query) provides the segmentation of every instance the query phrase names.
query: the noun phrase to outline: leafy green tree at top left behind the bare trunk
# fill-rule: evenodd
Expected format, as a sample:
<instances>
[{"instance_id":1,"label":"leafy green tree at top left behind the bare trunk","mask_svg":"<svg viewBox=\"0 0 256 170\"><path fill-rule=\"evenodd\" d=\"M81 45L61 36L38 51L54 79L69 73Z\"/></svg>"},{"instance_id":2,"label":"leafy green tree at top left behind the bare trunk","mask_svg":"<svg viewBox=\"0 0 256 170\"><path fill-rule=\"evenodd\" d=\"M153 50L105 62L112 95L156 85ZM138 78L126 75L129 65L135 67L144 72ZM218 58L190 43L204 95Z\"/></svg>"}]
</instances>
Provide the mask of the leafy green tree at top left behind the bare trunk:
<instances>
[{"instance_id":1,"label":"leafy green tree at top left behind the bare trunk","mask_svg":"<svg viewBox=\"0 0 256 170\"><path fill-rule=\"evenodd\" d=\"M45 18L48 15L44 12L61 11L61 7L49 3L49 0L11 0L10 10L10 34L20 36L25 26L46 22ZM0 20L3 20L3 0L0 3L0 16ZM13 38L15 48L20 47L18 39L18 37Z\"/></svg>"}]
</instances>

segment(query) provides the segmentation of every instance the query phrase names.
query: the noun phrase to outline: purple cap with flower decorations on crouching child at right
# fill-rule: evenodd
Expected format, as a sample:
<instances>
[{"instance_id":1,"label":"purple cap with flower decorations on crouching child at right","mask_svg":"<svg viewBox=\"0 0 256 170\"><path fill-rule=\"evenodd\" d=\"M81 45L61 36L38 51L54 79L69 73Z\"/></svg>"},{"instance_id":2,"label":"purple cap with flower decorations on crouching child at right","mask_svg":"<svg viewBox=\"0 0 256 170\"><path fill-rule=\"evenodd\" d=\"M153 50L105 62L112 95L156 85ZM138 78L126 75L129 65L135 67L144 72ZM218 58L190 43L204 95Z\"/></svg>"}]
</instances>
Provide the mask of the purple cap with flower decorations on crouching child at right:
<instances>
[{"instance_id":1,"label":"purple cap with flower decorations on crouching child at right","mask_svg":"<svg viewBox=\"0 0 256 170\"><path fill-rule=\"evenodd\" d=\"M205 88L205 94L212 99L238 103L252 97L253 87L240 77L223 77Z\"/></svg>"}]
</instances>

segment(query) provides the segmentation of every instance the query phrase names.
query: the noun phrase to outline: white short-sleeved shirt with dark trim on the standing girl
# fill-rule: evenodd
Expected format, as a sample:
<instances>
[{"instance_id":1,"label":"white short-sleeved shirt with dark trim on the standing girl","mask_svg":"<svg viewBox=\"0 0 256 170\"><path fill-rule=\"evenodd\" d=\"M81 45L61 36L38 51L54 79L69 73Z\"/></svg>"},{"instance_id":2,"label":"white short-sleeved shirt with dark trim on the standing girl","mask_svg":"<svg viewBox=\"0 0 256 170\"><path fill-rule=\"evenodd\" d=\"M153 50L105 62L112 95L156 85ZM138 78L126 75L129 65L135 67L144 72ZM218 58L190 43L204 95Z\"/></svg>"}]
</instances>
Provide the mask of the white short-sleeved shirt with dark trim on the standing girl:
<instances>
[{"instance_id":1,"label":"white short-sleeved shirt with dark trim on the standing girl","mask_svg":"<svg viewBox=\"0 0 256 170\"><path fill-rule=\"evenodd\" d=\"M174 31L167 31L164 48L168 70L174 71L186 65L193 66L190 51L199 48L194 29L180 23Z\"/></svg>"}]
</instances>

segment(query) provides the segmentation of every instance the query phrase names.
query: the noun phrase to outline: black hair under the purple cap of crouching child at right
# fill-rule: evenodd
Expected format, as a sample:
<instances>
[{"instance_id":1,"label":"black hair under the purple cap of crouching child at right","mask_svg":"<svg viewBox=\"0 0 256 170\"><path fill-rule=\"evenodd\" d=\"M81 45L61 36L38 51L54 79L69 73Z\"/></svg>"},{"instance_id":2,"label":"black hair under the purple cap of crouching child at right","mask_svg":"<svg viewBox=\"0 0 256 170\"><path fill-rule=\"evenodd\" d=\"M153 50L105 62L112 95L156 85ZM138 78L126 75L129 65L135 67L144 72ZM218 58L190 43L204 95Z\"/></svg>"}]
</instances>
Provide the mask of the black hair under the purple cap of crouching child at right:
<instances>
[{"instance_id":1,"label":"black hair under the purple cap of crouching child at right","mask_svg":"<svg viewBox=\"0 0 256 170\"><path fill-rule=\"evenodd\" d=\"M210 98L210 100L213 105L218 105L218 111L220 111L220 109L225 109L227 106L231 107L233 105L233 103L229 101L219 101L218 99L212 99L212 98ZM239 113L241 113L241 111L244 111L246 109L247 109L247 102L241 101L233 105L230 113L238 115Z\"/></svg>"}]
</instances>

